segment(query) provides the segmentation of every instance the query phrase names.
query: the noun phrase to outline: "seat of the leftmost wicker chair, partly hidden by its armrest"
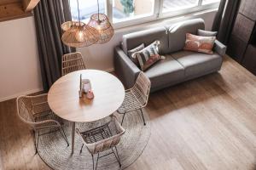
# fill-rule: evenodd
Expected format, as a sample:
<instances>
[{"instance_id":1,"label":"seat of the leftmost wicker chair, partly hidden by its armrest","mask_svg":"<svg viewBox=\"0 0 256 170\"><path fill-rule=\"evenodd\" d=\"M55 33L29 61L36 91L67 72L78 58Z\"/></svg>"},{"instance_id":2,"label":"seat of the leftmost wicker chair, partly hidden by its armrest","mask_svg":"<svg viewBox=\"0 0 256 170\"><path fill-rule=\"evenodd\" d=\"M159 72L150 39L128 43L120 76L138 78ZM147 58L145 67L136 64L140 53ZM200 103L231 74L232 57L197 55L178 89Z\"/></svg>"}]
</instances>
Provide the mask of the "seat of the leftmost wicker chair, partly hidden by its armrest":
<instances>
[{"instance_id":1,"label":"seat of the leftmost wicker chair, partly hidden by its armrest","mask_svg":"<svg viewBox=\"0 0 256 170\"><path fill-rule=\"evenodd\" d=\"M40 114L34 115L35 122L42 122L42 121L48 121L48 120L54 120L56 122L59 122L61 125L63 124L61 117L56 116L52 111L45 111ZM35 126L36 128L48 128L48 127L57 127L55 122L45 122L40 123Z\"/></svg>"}]
</instances>

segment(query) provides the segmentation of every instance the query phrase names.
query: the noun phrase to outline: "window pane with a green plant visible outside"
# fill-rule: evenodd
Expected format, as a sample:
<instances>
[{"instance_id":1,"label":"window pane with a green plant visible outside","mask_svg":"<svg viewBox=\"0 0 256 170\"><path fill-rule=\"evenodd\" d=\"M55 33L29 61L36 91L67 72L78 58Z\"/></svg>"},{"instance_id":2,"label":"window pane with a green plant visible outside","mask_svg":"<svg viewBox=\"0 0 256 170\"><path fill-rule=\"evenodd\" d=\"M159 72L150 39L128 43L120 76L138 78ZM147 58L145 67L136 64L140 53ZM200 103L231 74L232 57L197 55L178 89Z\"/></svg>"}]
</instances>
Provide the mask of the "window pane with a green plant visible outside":
<instances>
[{"instance_id":1,"label":"window pane with a green plant visible outside","mask_svg":"<svg viewBox=\"0 0 256 170\"><path fill-rule=\"evenodd\" d=\"M153 14L154 0L113 0L113 22Z\"/></svg>"}]
</instances>

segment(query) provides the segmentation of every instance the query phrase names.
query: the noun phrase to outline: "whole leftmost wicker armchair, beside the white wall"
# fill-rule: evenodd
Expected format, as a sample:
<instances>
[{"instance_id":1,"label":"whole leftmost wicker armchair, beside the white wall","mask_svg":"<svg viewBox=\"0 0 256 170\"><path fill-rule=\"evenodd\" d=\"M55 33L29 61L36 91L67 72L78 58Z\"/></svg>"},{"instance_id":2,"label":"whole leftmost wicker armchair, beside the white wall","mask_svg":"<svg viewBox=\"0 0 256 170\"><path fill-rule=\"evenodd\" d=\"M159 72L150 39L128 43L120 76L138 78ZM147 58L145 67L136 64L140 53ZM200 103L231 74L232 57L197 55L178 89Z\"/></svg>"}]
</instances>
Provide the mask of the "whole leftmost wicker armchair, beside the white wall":
<instances>
[{"instance_id":1,"label":"whole leftmost wicker armchair, beside the white wall","mask_svg":"<svg viewBox=\"0 0 256 170\"><path fill-rule=\"evenodd\" d=\"M37 96L20 96L17 100L17 112L20 120L32 127L35 133L36 154L38 153L39 137L60 131L62 137L67 142L67 136L61 126L61 118L49 109L47 94ZM45 132L48 131L48 132Z\"/></svg>"}]
</instances>

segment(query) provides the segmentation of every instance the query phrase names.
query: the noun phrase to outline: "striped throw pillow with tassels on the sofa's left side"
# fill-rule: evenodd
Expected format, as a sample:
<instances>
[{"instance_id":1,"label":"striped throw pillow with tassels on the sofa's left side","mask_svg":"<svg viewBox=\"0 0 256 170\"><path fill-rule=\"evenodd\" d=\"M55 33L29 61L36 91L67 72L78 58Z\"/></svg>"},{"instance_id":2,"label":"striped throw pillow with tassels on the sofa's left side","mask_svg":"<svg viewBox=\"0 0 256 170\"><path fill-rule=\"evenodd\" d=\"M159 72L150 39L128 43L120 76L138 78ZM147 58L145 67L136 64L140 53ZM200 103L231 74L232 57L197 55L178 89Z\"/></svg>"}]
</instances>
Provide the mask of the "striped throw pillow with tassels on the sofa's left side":
<instances>
[{"instance_id":1,"label":"striped throw pillow with tassels on the sofa's left side","mask_svg":"<svg viewBox=\"0 0 256 170\"><path fill-rule=\"evenodd\" d=\"M132 57L137 58L142 71L146 71L151 65L154 65L154 63L161 59L160 54L158 54L159 45L160 41L152 42L148 47L132 55Z\"/></svg>"}]
</instances>

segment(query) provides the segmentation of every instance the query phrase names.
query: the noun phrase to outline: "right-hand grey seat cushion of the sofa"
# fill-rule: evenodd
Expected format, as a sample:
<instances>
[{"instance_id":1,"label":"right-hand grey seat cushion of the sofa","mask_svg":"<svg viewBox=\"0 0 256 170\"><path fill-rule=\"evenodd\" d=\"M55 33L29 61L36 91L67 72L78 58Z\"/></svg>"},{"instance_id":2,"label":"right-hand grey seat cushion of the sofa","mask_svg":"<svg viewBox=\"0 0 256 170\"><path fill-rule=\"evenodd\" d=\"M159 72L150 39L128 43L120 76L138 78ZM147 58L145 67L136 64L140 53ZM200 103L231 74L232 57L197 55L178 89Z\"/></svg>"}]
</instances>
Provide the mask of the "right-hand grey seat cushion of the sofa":
<instances>
[{"instance_id":1,"label":"right-hand grey seat cushion of the sofa","mask_svg":"<svg viewBox=\"0 0 256 170\"><path fill-rule=\"evenodd\" d=\"M202 54L191 51L180 51L171 54L185 68L185 78L203 75L209 71L217 70L222 65L223 58L217 54Z\"/></svg>"}]
</instances>

